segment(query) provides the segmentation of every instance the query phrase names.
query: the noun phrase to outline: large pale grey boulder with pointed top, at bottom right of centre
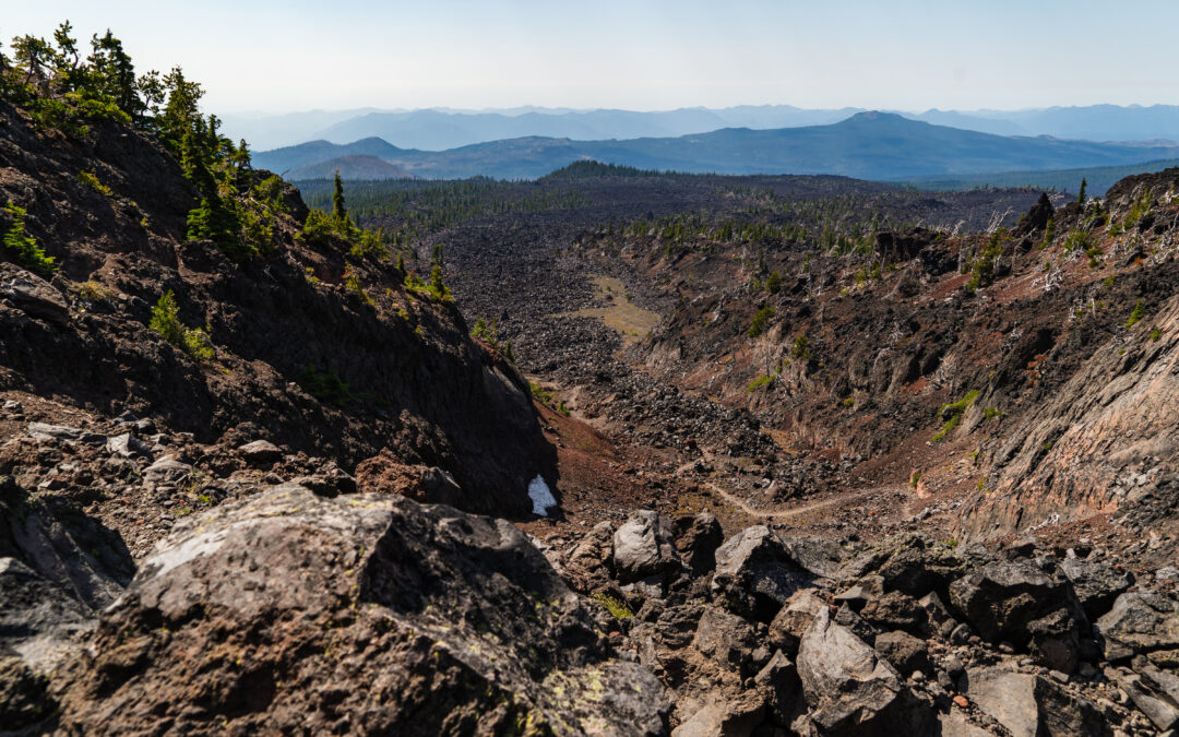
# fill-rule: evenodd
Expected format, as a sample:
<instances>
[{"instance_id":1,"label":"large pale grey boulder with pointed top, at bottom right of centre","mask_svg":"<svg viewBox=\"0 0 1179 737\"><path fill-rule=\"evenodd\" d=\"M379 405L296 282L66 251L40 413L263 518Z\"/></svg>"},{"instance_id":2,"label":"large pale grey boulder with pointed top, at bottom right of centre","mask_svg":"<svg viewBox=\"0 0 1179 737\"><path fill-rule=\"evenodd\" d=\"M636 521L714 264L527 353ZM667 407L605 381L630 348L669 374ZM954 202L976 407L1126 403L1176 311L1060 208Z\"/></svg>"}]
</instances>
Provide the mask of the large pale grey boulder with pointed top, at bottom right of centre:
<instances>
[{"instance_id":1,"label":"large pale grey boulder with pointed top, at bottom right of centre","mask_svg":"<svg viewBox=\"0 0 1179 737\"><path fill-rule=\"evenodd\" d=\"M923 733L933 712L909 697L901 675L821 608L798 649L810 720L824 735Z\"/></svg>"}]
</instances>

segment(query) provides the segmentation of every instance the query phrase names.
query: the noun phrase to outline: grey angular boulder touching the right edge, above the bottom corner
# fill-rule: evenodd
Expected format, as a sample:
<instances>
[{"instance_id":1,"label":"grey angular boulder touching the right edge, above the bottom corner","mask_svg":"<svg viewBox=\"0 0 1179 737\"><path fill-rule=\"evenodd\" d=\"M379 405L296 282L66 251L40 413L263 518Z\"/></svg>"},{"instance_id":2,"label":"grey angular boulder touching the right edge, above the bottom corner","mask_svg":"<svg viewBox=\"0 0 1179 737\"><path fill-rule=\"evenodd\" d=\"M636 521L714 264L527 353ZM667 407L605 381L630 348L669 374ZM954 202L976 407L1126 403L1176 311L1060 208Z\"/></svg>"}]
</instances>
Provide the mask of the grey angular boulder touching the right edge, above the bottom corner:
<instances>
[{"instance_id":1,"label":"grey angular boulder touching the right edge, above the bottom corner","mask_svg":"<svg viewBox=\"0 0 1179 737\"><path fill-rule=\"evenodd\" d=\"M1118 597L1096 621L1107 660L1128 659L1154 650L1179 649L1179 601L1152 591Z\"/></svg>"}]
</instances>

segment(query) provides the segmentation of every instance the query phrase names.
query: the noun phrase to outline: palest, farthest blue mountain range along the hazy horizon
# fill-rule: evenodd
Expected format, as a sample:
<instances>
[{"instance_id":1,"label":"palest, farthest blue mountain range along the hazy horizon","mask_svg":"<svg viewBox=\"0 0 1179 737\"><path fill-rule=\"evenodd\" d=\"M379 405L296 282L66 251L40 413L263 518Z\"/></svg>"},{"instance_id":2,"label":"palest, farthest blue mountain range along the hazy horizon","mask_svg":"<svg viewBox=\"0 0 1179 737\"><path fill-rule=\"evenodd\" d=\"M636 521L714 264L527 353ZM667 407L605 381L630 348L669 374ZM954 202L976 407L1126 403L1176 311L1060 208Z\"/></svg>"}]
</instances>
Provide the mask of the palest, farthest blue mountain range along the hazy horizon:
<instances>
[{"instance_id":1,"label":"palest, farthest blue mountain range along the hazy horizon","mask_svg":"<svg viewBox=\"0 0 1179 737\"><path fill-rule=\"evenodd\" d=\"M826 125L867 112L858 107L804 110L791 105L683 107L660 112L521 107L500 111L347 110L226 114L224 132L256 149L307 140L348 143L382 138L402 149L444 151L477 143L540 136L573 140L674 138L726 127L772 130ZM896 111L894 111L896 112ZM913 120L996 136L1055 136L1085 140L1179 140L1179 106L1091 105L1042 110L898 112Z\"/></svg>"}]
</instances>

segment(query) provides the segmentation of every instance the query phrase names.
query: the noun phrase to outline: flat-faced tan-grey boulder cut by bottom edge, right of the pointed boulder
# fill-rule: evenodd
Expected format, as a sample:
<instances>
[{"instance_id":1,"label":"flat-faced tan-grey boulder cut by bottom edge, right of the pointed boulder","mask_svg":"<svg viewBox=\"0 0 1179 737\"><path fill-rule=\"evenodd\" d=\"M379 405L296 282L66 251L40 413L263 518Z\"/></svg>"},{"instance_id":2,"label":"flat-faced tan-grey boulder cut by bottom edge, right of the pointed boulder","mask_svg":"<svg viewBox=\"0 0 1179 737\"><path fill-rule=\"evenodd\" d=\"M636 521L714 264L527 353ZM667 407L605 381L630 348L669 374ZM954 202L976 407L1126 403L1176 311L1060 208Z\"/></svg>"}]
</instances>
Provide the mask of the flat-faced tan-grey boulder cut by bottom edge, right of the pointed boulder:
<instances>
[{"instance_id":1,"label":"flat-faced tan-grey boulder cut by bottom edge, right of the pointed boulder","mask_svg":"<svg viewBox=\"0 0 1179 737\"><path fill-rule=\"evenodd\" d=\"M1088 700L1047 678L1000 667L967 671L967 696L1012 737L1109 735L1109 725Z\"/></svg>"}]
</instances>

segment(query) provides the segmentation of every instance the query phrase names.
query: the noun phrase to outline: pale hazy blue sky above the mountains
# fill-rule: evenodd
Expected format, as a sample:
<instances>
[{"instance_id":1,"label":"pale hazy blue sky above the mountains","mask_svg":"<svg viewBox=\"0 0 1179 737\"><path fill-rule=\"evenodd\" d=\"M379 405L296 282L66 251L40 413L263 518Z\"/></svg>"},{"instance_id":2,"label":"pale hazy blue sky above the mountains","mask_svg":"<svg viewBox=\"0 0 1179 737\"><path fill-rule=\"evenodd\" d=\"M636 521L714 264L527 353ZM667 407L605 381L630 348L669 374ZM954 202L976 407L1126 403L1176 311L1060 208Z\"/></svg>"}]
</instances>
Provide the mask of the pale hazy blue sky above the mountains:
<instances>
[{"instance_id":1,"label":"pale hazy blue sky above the mountains","mask_svg":"<svg viewBox=\"0 0 1179 737\"><path fill-rule=\"evenodd\" d=\"M213 112L516 105L975 110L1179 104L1174 0L53 0ZM7 42L6 42L7 46Z\"/></svg>"}]
</instances>

